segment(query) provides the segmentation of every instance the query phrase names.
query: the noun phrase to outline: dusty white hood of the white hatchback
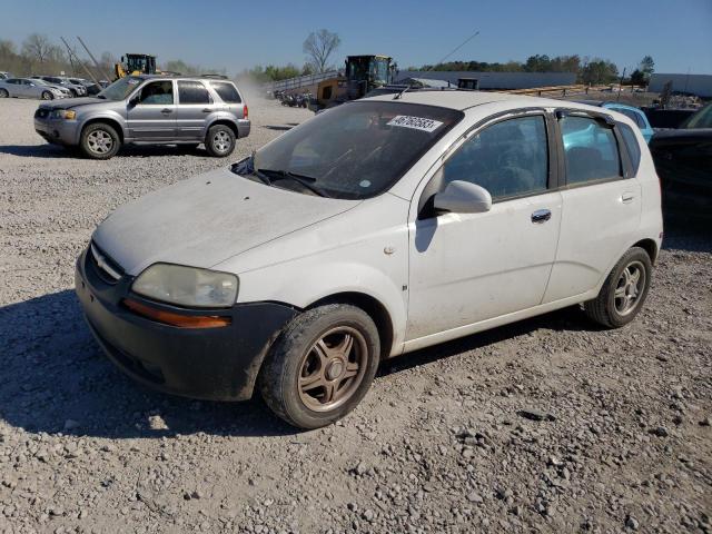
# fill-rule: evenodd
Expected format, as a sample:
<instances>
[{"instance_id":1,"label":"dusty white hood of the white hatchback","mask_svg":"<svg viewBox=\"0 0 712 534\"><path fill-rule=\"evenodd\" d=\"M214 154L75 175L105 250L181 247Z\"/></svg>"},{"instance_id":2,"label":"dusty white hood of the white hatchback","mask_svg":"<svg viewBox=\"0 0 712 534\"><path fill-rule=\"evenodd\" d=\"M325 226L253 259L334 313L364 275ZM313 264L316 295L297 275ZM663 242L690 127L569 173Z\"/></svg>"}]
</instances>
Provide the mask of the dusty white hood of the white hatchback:
<instances>
[{"instance_id":1,"label":"dusty white hood of the white hatchback","mask_svg":"<svg viewBox=\"0 0 712 534\"><path fill-rule=\"evenodd\" d=\"M118 208L92 239L134 276L157 261L210 268L358 204L268 187L218 169Z\"/></svg>"}]
</instances>

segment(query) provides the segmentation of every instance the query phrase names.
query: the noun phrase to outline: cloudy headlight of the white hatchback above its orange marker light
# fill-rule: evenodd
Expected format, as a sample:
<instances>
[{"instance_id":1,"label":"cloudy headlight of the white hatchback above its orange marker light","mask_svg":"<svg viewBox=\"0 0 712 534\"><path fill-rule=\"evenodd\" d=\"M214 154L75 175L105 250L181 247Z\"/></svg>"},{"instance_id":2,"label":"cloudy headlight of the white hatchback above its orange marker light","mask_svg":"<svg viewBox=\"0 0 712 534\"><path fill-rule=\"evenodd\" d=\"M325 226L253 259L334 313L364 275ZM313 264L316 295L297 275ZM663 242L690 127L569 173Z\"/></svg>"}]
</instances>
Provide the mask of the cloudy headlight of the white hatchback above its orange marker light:
<instances>
[{"instance_id":1,"label":"cloudy headlight of the white hatchback above its orange marker light","mask_svg":"<svg viewBox=\"0 0 712 534\"><path fill-rule=\"evenodd\" d=\"M237 300L239 280L229 273L155 264L139 275L135 293L156 300L196 308L229 307Z\"/></svg>"}]
</instances>

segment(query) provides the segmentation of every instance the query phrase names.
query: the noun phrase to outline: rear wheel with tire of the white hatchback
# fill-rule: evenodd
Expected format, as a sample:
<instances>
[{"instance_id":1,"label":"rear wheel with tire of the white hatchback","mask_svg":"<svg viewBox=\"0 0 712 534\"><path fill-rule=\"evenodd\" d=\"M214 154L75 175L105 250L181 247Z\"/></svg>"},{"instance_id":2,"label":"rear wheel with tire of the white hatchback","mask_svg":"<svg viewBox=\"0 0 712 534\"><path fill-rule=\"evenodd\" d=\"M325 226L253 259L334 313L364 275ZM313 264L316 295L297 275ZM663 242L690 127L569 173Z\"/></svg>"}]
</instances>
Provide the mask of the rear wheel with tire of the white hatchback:
<instances>
[{"instance_id":1,"label":"rear wheel with tire of the white hatchback","mask_svg":"<svg viewBox=\"0 0 712 534\"><path fill-rule=\"evenodd\" d=\"M629 249L611 270L599 296L584 303L585 314L606 328L627 325L645 303L652 270L650 256L644 249Z\"/></svg>"}]
</instances>

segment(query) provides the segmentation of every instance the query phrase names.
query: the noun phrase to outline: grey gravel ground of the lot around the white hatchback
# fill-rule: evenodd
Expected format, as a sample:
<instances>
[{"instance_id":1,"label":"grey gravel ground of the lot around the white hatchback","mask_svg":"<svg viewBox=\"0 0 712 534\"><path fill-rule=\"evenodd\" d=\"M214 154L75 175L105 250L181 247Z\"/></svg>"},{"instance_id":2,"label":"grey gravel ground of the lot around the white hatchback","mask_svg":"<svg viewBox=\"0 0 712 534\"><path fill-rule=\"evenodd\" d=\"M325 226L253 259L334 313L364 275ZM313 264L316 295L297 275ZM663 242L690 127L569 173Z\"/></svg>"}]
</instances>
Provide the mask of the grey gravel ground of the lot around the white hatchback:
<instances>
[{"instance_id":1,"label":"grey gravel ground of the lot around the white hatchback","mask_svg":"<svg viewBox=\"0 0 712 534\"><path fill-rule=\"evenodd\" d=\"M77 159L0 101L0 532L712 532L712 238L669 231L643 314L576 308L384 364L345 421L191 402L100 354L76 256L127 200L225 160ZM309 117L250 101L248 154ZM669 228L669 230L671 230Z\"/></svg>"}]
</instances>

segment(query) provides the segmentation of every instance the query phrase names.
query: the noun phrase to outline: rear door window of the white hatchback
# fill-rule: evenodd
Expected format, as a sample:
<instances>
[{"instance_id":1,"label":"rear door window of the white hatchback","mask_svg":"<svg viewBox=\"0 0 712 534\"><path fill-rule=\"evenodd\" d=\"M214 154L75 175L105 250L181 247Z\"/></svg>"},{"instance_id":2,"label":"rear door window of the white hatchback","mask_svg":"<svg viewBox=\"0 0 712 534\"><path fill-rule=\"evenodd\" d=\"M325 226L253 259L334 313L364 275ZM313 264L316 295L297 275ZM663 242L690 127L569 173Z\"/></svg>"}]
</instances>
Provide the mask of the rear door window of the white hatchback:
<instances>
[{"instance_id":1,"label":"rear door window of the white hatchback","mask_svg":"<svg viewBox=\"0 0 712 534\"><path fill-rule=\"evenodd\" d=\"M567 184L621 178L621 157L613 128L590 117L563 117Z\"/></svg>"}]
</instances>

